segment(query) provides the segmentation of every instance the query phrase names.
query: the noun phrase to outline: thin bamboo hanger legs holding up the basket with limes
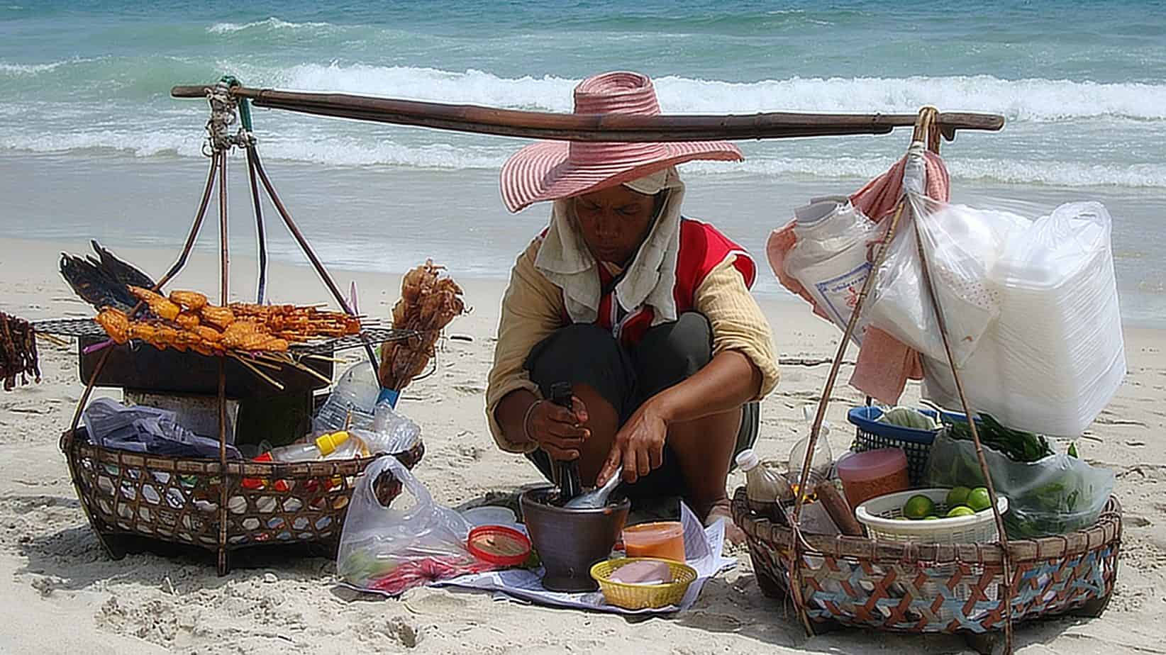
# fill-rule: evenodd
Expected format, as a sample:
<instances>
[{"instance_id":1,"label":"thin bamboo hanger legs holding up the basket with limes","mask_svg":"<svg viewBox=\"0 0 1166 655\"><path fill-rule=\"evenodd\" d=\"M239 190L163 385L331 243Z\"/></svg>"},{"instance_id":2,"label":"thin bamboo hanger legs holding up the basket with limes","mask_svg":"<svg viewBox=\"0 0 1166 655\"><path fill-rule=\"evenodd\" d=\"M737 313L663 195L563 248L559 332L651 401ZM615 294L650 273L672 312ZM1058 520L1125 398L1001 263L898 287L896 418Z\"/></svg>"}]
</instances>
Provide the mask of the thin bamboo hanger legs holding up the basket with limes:
<instances>
[{"instance_id":1,"label":"thin bamboo hanger legs holding up the basket with limes","mask_svg":"<svg viewBox=\"0 0 1166 655\"><path fill-rule=\"evenodd\" d=\"M940 114L935 110L935 107L923 107L922 110L920 110L918 120L915 121L914 132L912 134L912 142L926 143L927 148L930 152L937 153L940 146L940 132L936 127L936 120L939 115ZM810 624L809 615L806 612L805 599L802 598L800 569L801 569L801 554L803 549L808 549L809 547L802 538L801 530L798 527L798 519L801 514L801 508L807 495L806 493L802 492L802 490L806 488L806 485L809 480L810 465L813 464L814 460L814 446L817 444L817 439L820 438L822 423L826 420L826 410L830 403L830 395L834 392L834 385L838 376L838 371L842 365L843 355L845 354L847 347L850 345L851 336L854 334L855 329L858 325L858 319L862 316L863 307L865 305L868 295L870 294L870 290L874 288L874 281L876 277L878 276L878 269L881 266L884 259L886 258L887 249L890 248L891 241L894 239L894 235L901 225L904 214L908 211L909 211L909 203L907 200L906 189L904 189L904 196L899 200L899 204L895 207L894 213L891 218L890 225L886 228L885 237L881 239L879 244L879 248L873 258L871 272L866 276L865 282L863 283L863 288L858 294L857 302L855 303L855 309L850 315L850 319L847 322L845 331L842 336L842 339L838 343L838 350L837 353L835 354L834 364L830 367L830 373L827 376L826 386L822 390L822 396L819 400L817 414L815 415L814 423L810 427L809 445L806 449L806 459L802 462L801 476L798 480L799 493L795 495L794 508L789 516L791 542L792 542L789 544L789 552L791 552L789 571L792 578L789 587L794 596L794 605L798 610L798 614L801 618L802 626L806 628L808 634L813 634L814 631ZM1004 619L1004 653L1005 655L1010 655L1012 653L1013 584L1012 584L1011 549L1009 548L1007 534L1005 533L1004 529L1004 517L1000 515L999 507L997 503L996 487L995 485L992 485L992 478L989 474L988 463L984 459L983 446L981 445L979 441L979 432L976 429L976 421L974 420L975 414L972 413L971 404L968 402L968 397L964 394L963 385L961 382L960 371L956 367L955 358L951 354L951 347L949 345L947 334L947 323L943 317L943 309L942 307L940 307L939 300L935 295L933 281L930 279L930 275L928 274L927 253L925 252L922 239L919 235L918 217L912 217L912 219L913 220L911 230L914 232L915 247L918 249L922 268L922 279L925 286L925 289L922 289L922 291L927 295L928 302L930 303L932 309L935 311L935 316L937 318L940 336L943 339L943 348L947 354L947 361L948 365L951 367L951 374L956 381L956 390L960 395L960 402L962 403L964 416L968 417L968 424L971 428L971 438L976 446L976 456L979 460L981 473L983 474L985 480L985 486L988 487L989 498L992 503L992 516L996 521L997 531L999 533L998 538L1000 548L1000 562L1003 569L1002 570L1003 584L1000 585L1000 592L998 593L1003 596L1003 598L998 598L998 600L1000 600L1002 604L1002 615Z\"/></svg>"}]
</instances>

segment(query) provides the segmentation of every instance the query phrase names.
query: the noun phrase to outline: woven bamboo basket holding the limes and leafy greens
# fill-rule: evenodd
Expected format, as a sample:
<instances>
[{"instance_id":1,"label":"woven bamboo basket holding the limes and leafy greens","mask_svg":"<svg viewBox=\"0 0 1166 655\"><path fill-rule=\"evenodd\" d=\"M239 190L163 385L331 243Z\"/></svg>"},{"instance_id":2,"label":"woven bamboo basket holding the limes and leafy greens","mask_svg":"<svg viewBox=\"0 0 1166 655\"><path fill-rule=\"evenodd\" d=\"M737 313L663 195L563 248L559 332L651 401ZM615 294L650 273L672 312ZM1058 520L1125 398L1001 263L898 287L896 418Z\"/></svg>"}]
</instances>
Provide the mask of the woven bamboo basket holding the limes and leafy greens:
<instances>
[{"instance_id":1,"label":"woven bamboo basket holding the limes and leafy greens","mask_svg":"<svg viewBox=\"0 0 1166 655\"><path fill-rule=\"evenodd\" d=\"M815 632L843 625L906 633L985 634L1003 629L999 544L919 544L793 535L751 512L744 487L732 502L758 585L803 607ZM1122 508L1110 499L1097 523L1056 537L1010 541L1012 620L1058 614L1097 617L1117 579Z\"/></svg>"}]
</instances>

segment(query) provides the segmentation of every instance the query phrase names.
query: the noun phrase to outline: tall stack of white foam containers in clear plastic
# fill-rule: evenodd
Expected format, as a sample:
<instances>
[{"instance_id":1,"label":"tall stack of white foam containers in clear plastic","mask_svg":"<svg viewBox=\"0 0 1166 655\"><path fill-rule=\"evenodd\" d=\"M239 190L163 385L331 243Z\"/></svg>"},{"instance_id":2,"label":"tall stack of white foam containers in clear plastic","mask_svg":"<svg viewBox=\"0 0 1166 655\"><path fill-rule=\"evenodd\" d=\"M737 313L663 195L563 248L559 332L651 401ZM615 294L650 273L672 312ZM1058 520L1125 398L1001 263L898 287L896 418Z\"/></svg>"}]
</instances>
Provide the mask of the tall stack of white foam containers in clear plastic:
<instances>
[{"instance_id":1,"label":"tall stack of white foam containers in clear plastic","mask_svg":"<svg viewBox=\"0 0 1166 655\"><path fill-rule=\"evenodd\" d=\"M1076 437L1125 376L1125 346L1100 203L1069 203L1012 239L990 276L1000 314L961 368L974 411L1019 430ZM925 358L923 396L960 400L946 362Z\"/></svg>"}]
</instances>

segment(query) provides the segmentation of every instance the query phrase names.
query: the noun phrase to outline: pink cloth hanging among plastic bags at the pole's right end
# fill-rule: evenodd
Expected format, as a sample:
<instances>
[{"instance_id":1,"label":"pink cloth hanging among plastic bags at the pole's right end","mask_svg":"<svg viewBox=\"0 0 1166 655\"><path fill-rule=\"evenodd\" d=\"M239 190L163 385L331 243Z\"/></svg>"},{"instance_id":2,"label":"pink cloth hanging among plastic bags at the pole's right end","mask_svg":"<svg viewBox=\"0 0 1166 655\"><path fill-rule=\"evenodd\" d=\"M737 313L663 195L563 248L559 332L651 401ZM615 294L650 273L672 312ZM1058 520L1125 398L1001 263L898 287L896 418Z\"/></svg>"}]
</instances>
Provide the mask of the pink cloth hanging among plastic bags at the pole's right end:
<instances>
[{"instance_id":1,"label":"pink cloth hanging among plastic bags at the pole's right end","mask_svg":"<svg viewBox=\"0 0 1166 655\"><path fill-rule=\"evenodd\" d=\"M927 168L927 195L935 200L948 202L951 181L943 160L929 150L923 153L923 159ZM891 216L902 196L902 171L906 164L907 157L904 157L890 170L868 182L850 196L851 204L874 223L880 223ZM798 280L786 274L786 253L796 241L793 220L785 227L774 230L765 245L770 267L773 268L782 287L806 298L806 302L814 308L814 314L829 321L809 291ZM850 375L850 386L880 402L895 404L907 386L907 379L919 380L922 376L923 367L918 352L886 332L869 328L863 337L863 347L858 351L855 372Z\"/></svg>"}]
</instances>

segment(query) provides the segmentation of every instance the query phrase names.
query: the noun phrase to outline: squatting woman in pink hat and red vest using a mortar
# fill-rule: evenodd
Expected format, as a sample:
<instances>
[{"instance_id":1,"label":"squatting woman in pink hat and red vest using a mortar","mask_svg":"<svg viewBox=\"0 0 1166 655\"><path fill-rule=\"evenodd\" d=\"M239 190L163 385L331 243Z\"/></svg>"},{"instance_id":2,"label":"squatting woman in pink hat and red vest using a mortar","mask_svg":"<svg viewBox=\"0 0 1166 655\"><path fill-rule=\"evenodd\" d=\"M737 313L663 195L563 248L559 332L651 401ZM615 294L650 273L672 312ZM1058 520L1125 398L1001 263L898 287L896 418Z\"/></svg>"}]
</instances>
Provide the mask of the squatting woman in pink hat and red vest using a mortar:
<instances>
[{"instance_id":1,"label":"squatting woman in pink hat and red vest using a mortar","mask_svg":"<svg viewBox=\"0 0 1166 655\"><path fill-rule=\"evenodd\" d=\"M660 108L646 76L610 72L575 89L575 112ZM503 298L486 413L498 445L548 479L552 460L577 459L584 486L621 464L633 500L679 495L709 523L730 515L726 477L778 369L749 293L752 259L680 214L675 165L698 159L742 154L714 141L552 141L506 162L511 211L554 204ZM555 382L571 383L571 409L543 400Z\"/></svg>"}]
</instances>

